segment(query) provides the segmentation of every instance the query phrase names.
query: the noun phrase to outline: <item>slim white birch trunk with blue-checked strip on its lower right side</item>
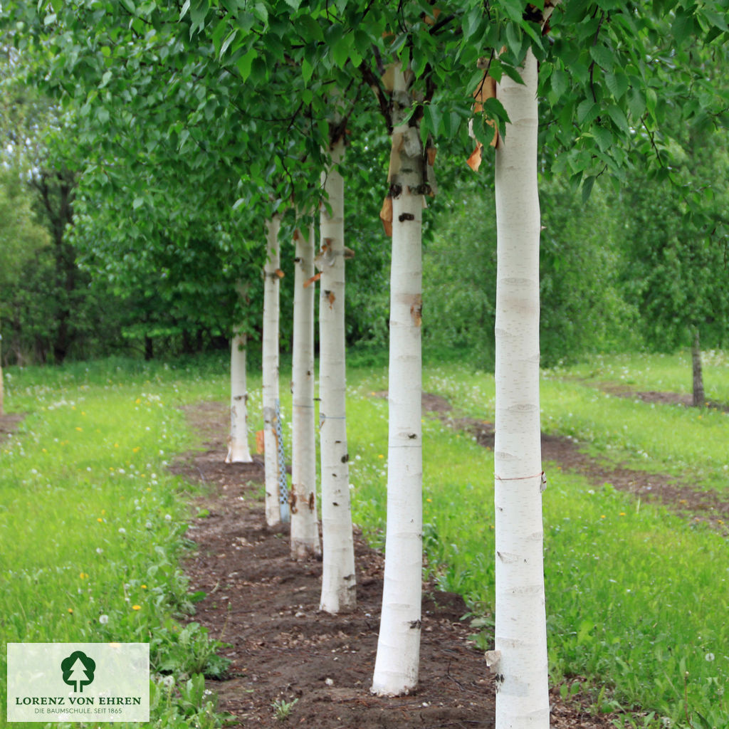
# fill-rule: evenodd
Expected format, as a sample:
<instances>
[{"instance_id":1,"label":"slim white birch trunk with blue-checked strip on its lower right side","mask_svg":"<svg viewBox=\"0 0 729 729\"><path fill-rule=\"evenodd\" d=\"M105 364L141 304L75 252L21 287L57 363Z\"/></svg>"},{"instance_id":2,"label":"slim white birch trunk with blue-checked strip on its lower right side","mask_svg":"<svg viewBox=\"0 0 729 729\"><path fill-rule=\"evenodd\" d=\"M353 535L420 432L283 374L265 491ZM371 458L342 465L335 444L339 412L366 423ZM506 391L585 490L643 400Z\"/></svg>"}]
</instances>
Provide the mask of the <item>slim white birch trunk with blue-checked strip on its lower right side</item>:
<instances>
[{"instance_id":1,"label":"slim white birch trunk with blue-checked strip on its lower right side","mask_svg":"<svg viewBox=\"0 0 729 729\"><path fill-rule=\"evenodd\" d=\"M263 267L263 448L265 464L265 514L268 526L281 523L278 502L278 440L276 438L276 400L278 400L278 273L281 254L278 229L281 220L274 216L266 223L266 263Z\"/></svg>"}]
</instances>

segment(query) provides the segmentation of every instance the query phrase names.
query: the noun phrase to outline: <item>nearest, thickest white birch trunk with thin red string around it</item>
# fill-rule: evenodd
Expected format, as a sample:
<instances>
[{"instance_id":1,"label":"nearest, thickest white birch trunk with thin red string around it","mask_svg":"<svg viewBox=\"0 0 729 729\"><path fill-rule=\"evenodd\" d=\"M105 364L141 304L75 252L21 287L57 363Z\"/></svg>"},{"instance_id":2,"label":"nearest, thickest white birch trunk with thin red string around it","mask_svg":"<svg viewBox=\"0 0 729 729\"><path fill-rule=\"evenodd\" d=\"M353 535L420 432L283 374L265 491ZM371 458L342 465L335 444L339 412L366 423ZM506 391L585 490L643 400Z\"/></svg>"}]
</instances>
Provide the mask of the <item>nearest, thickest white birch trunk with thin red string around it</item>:
<instances>
[{"instance_id":1,"label":"nearest, thickest white birch trunk with thin red string around it","mask_svg":"<svg viewBox=\"0 0 729 729\"><path fill-rule=\"evenodd\" d=\"M539 440L537 61L504 75L496 148L496 729L549 726Z\"/></svg>"}]
</instances>

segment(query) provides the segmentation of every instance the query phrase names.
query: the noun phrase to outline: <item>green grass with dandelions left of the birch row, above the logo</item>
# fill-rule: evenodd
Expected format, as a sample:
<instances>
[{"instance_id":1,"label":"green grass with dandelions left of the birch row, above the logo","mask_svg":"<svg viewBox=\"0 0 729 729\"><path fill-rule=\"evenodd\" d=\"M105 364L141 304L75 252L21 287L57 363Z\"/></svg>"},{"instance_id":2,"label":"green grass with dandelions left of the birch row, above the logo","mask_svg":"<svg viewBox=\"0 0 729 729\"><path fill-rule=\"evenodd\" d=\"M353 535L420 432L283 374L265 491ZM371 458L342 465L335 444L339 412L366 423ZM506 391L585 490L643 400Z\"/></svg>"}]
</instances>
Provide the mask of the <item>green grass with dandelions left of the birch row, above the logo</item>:
<instances>
[{"instance_id":1,"label":"green grass with dandelions left of the birch row, above the logo","mask_svg":"<svg viewBox=\"0 0 729 729\"><path fill-rule=\"evenodd\" d=\"M2 643L149 642L158 727L222 721L203 674L227 660L188 622L201 595L179 564L192 493L167 469L194 445L176 406L209 397L211 368L120 359L5 378L26 417L0 444Z\"/></svg>"}]
</instances>

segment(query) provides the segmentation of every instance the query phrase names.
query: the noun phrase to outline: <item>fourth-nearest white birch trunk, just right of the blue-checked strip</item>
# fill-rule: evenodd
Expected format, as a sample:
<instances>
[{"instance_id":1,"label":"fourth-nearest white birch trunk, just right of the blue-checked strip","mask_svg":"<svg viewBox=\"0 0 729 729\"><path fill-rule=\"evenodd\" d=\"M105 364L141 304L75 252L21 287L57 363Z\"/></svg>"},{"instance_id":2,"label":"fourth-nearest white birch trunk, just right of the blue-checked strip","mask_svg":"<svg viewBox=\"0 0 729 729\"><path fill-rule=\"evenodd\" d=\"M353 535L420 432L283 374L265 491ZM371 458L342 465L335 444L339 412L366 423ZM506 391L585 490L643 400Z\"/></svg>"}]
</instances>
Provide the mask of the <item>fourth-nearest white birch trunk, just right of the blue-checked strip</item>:
<instances>
[{"instance_id":1,"label":"fourth-nearest white birch trunk, just right of the blue-checked strip","mask_svg":"<svg viewBox=\"0 0 729 729\"><path fill-rule=\"evenodd\" d=\"M294 362L292 367L291 556L321 555L316 518L314 423L314 227L295 235Z\"/></svg>"}]
</instances>

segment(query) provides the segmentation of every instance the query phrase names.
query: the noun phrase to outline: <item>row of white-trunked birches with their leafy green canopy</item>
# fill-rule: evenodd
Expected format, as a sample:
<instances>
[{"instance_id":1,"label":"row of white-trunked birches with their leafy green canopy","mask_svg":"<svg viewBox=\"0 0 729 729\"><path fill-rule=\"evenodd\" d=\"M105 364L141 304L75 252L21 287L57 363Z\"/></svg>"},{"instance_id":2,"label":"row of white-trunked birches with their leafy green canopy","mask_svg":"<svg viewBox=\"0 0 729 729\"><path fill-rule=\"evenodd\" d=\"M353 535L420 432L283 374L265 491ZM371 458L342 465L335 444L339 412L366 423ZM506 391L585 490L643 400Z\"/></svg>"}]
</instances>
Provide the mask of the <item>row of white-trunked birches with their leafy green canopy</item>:
<instances>
[{"instance_id":1,"label":"row of white-trunked birches with their leafy green canopy","mask_svg":"<svg viewBox=\"0 0 729 729\"><path fill-rule=\"evenodd\" d=\"M203 241L203 256L214 262L193 268L194 278L183 283L204 291L211 270L234 261L228 290L239 301L241 285L257 278L250 270L264 271L268 523L286 515L272 457L278 256L281 241L313 241L302 231L311 230L319 209L321 607L330 612L355 601L342 177L361 173L359 187L372 187L380 176L374 153L359 170L344 154L348 137L389 136L381 182L381 218L392 237L388 524L375 693L407 693L418 679L421 241L426 200L437 190L436 144L439 159L454 151L463 158L464 145L475 144L473 167L496 146L496 636L488 658L498 681L497 726L547 726L537 172L566 174L582 184L585 198L599 176L610 176L617 193L629 145L633 155L655 160L659 177L675 176L671 160L683 147L680 135L669 141L671 123L698 133L725 121L722 87L706 73L712 50L697 39L725 57L727 15L717 0L701 7L655 0L650 8L627 0L8 4L7 32L30 79L65 104L56 139L61 149L72 141L77 163L74 233L82 256L119 281L148 275L156 285L160 257L200 266L206 259L195 258L195 243ZM453 174L441 180L448 184ZM685 195L686 212L703 231L711 216L701 217L707 195L697 194ZM308 256L297 252L302 269ZM464 277L469 265L461 262ZM303 281L306 273L311 269L299 278L297 295L316 278ZM205 303L201 295L199 308ZM311 306L297 301L295 318L310 321ZM298 371L311 378L311 327L295 322L294 329ZM235 333L249 333L241 316ZM236 352L240 338L234 361ZM309 411L311 424L311 383L294 379L296 410L302 418ZM234 407L245 399L244 388L236 392ZM319 548L311 529L313 482L304 483L311 478L311 428L303 431L294 459L308 454L301 470L308 475L297 471L289 502L299 555ZM295 529L304 518L305 529Z\"/></svg>"}]
</instances>

